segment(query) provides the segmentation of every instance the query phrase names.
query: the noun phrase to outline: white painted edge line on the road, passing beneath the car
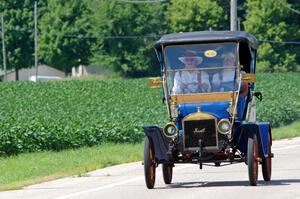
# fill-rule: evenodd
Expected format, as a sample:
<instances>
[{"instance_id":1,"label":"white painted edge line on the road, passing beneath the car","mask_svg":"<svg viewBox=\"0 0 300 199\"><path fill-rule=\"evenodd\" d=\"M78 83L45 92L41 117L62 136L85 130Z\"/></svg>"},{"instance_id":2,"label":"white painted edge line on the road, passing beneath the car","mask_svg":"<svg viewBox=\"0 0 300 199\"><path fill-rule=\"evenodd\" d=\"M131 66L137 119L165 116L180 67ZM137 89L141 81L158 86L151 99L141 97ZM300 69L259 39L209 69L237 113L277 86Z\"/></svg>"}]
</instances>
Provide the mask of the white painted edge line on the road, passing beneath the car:
<instances>
[{"instance_id":1,"label":"white painted edge line on the road, passing beneath the car","mask_svg":"<svg viewBox=\"0 0 300 199\"><path fill-rule=\"evenodd\" d=\"M180 166L178 168L174 168L174 170L176 170L176 171L177 170L182 170L182 169L186 169L186 168L191 167L191 166L194 166L194 165L184 165L184 166ZM161 175L161 173L162 172L157 172L157 175ZM66 199L66 198L70 198L70 197L73 197L73 196L78 196L78 195L83 195L83 194L86 194L86 193L99 191L99 190L102 190L102 189L109 189L109 188L112 188L112 187L116 187L116 186L119 186L119 185L130 183L130 182L135 182L135 181L138 181L138 180L141 180L141 179L144 179L144 176L138 176L138 177L135 177L135 178L132 178L132 179L129 179L129 180L124 180L124 181L121 181L121 182L116 182L116 183L104 185L104 186L101 186L101 187L96 187L96 188L92 188L92 189L88 189L88 190L84 190L84 191L79 191L79 192L67 194L67 195L64 195L64 196L55 197L53 199Z\"/></svg>"}]
</instances>

